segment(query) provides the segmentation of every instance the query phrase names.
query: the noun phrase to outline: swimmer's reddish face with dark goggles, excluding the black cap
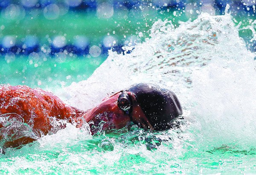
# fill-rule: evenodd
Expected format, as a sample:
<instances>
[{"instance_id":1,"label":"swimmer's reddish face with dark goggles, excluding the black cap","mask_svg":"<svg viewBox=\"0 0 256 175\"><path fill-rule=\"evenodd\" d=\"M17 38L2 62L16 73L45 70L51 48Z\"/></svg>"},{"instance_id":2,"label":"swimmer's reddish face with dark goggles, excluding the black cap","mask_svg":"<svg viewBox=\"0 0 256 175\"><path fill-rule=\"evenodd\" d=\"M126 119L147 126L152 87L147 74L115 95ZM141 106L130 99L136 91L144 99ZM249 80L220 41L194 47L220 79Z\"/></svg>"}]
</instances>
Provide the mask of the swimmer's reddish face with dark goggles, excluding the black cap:
<instances>
[{"instance_id":1,"label":"swimmer's reddish face with dark goggles, excluding the black cap","mask_svg":"<svg viewBox=\"0 0 256 175\"><path fill-rule=\"evenodd\" d=\"M105 98L98 106L87 112L85 119L93 134L100 129L122 129L131 122L139 127L153 130L134 94L127 91Z\"/></svg>"}]
</instances>

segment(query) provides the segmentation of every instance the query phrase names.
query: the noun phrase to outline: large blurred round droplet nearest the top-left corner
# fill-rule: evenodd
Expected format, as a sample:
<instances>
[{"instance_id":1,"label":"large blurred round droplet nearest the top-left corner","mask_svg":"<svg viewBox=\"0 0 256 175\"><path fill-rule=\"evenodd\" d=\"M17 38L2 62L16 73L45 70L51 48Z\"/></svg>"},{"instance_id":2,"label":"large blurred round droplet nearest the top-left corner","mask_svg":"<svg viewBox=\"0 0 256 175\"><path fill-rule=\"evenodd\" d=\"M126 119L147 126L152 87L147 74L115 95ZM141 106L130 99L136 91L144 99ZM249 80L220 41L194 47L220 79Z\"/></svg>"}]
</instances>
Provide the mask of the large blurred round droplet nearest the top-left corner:
<instances>
[{"instance_id":1,"label":"large blurred round droplet nearest the top-left corner","mask_svg":"<svg viewBox=\"0 0 256 175\"><path fill-rule=\"evenodd\" d=\"M25 15L24 13L24 9L16 4L10 4L1 11L2 17L8 20L22 19Z\"/></svg>"}]
</instances>

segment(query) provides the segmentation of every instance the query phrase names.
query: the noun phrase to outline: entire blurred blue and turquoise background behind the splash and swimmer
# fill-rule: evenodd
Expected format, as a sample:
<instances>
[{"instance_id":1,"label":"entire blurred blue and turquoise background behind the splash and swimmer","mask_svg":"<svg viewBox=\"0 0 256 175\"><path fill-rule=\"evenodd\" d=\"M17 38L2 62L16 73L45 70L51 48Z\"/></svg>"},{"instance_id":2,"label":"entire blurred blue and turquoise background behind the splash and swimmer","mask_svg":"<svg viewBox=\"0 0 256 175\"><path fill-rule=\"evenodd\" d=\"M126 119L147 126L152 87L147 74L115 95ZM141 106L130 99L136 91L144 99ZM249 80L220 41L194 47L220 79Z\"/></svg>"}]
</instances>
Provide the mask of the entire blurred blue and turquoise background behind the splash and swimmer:
<instances>
[{"instance_id":1,"label":"entire blurred blue and turquoise background behind the splash and swimmer","mask_svg":"<svg viewBox=\"0 0 256 175\"><path fill-rule=\"evenodd\" d=\"M0 0L0 84L68 86L90 77L109 49L124 54L150 37L155 21L179 26L201 12L223 15L227 4L254 52L255 0Z\"/></svg>"}]
</instances>

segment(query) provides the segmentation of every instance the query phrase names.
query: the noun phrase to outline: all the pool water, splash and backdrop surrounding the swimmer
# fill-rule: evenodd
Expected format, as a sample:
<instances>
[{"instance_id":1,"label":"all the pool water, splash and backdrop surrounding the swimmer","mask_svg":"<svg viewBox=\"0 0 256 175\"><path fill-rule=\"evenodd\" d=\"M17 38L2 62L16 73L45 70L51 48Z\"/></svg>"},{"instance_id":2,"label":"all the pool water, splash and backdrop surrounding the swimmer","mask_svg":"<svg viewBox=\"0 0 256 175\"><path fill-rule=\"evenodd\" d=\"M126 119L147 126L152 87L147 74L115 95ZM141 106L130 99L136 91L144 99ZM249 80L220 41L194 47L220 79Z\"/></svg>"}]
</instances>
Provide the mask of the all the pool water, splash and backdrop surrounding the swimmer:
<instances>
[{"instance_id":1,"label":"all the pool water, splash and backdrop surrounding the swimmer","mask_svg":"<svg viewBox=\"0 0 256 175\"><path fill-rule=\"evenodd\" d=\"M255 174L255 2L1 1L0 83L90 109L134 83L172 89L180 127L87 123L1 149L1 174ZM58 123L55 123L58 125ZM2 146L4 140L0 141Z\"/></svg>"}]
</instances>

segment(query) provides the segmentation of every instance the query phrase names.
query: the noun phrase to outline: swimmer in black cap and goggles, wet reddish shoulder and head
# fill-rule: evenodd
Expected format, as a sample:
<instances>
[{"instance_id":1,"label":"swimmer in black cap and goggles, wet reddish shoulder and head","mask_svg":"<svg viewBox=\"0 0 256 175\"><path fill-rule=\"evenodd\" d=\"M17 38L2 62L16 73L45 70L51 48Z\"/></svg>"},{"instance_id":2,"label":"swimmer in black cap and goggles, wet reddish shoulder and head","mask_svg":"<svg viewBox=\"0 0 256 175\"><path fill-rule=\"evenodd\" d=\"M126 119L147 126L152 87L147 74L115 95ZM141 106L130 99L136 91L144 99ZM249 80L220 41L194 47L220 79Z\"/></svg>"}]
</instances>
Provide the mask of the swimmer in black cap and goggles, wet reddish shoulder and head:
<instances>
[{"instance_id":1,"label":"swimmer in black cap and goggles, wet reddish shoulder and head","mask_svg":"<svg viewBox=\"0 0 256 175\"><path fill-rule=\"evenodd\" d=\"M182 109L176 95L151 83L135 84L87 111L69 106L39 88L0 86L0 143L7 140L3 147L19 147L65 128L62 122L56 129L53 121L64 120L78 128L85 121L94 135L100 127L122 129L131 123L155 131L167 130L179 115Z\"/></svg>"}]
</instances>

